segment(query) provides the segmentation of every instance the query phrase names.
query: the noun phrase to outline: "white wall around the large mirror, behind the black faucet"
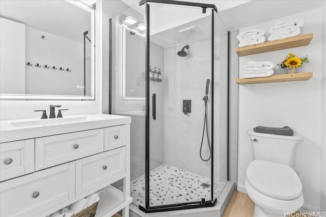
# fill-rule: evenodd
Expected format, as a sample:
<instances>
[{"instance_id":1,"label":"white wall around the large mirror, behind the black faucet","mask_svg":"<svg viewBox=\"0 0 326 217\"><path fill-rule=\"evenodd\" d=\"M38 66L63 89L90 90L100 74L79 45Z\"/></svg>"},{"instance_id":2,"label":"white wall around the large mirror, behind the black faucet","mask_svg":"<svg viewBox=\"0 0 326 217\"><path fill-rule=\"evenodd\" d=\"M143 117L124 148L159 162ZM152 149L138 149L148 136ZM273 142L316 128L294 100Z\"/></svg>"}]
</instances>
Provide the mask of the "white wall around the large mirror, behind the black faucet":
<instances>
[{"instance_id":1,"label":"white wall around the large mirror, behind the black faucet","mask_svg":"<svg viewBox=\"0 0 326 217\"><path fill-rule=\"evenodd\" d=\"M101 1L96 3L95 26L102 25ZM35 101L35 100L2 100L0 101L0 119L39 118L41 114L34 112L36 109L47 109L49 104L62 105L68 108L63 115L95 114L101 113L101 71L102 71L102 30L95 28L96 32L96 58L95 58L95 100L92 101Z\"/></svg>"}]
</instances>

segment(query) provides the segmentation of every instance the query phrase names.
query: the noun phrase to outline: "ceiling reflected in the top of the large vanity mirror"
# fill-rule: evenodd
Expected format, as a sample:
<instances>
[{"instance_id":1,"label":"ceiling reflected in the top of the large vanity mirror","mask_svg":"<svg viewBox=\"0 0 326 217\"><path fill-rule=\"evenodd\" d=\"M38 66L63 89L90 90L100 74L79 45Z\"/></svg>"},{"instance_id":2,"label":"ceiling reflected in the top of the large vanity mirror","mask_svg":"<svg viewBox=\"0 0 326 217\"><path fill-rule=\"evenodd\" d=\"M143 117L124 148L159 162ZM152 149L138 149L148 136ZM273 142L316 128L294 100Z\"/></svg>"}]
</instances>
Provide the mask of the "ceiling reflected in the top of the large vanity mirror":
<instances>
[{"instance_id":1,"label":"ceiling reflected in the top of the large vanity mirror","mask_svg":"<svg viewBox=\"0 0 326 217\"><path fill-rule=\"evenodd\" d=\"M0 0L0 16L77 42L91 29L91 13L61 0Z\"/></svg>"}]
</instances>

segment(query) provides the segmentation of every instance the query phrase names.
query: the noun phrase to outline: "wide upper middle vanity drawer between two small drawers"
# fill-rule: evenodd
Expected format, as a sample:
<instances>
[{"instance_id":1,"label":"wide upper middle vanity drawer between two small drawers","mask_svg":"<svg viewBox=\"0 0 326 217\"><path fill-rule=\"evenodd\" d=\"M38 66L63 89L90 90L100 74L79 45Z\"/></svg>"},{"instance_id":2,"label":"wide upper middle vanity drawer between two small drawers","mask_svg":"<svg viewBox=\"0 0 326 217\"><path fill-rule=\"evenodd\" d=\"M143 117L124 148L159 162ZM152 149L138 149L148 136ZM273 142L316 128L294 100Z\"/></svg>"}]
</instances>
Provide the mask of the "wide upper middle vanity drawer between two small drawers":
<instances>
[{"instance_id":1,"label":"wide upper middle vanity drawer between two small drawers","mask_svg":"<svg viewBox=\"0 0 326 217\"><path fill-rule=\"evenodd\" d=\"M103 131L96 129L35 139L35 170L102 152Z\"/></svg>"}]
</instances>

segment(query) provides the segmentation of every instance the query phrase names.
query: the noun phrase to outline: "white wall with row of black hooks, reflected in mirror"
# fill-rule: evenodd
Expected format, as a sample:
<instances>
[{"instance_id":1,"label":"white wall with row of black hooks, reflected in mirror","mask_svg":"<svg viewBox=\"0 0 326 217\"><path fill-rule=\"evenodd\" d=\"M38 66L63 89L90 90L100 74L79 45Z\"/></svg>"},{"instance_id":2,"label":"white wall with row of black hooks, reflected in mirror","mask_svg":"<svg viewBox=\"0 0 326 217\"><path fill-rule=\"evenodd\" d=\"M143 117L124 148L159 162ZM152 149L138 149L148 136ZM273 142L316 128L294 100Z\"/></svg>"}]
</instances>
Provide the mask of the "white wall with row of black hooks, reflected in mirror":
<instances>
[{"instance_id":1,"label":"white wall with row of black hooks, reflected in mirror","mask_svg":"<svg viewBox=\"0 0 326 217\"><path fill-rule=\"evenodd\" d=\"M84 86L84 43L26 26L26 61L33 64L26 66L26 94L84 96L84 89L77 88ZM34 67L36 63L42 67ZM71 72L60 71L60 67ZM91 74L90 66L86 73Z\"/></svg>"}]
</instances>

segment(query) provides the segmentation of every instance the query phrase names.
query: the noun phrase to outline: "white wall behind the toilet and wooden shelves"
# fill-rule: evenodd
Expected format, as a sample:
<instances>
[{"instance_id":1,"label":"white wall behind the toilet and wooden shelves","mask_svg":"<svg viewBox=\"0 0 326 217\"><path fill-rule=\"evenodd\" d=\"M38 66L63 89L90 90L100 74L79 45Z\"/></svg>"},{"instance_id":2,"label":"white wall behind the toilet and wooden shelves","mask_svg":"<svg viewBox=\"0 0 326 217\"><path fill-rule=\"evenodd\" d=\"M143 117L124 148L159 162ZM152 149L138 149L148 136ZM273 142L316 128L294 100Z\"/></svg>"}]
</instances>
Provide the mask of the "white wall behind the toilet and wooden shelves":
<instances>
[{"instance_id":1,"label":"white wall behind the toilet and wooden shelves","mask_svg":"<svg viewBox=\"0 0 326 217\"><path fill-rule=\"evenodd\" d=\"M310 45L281 51L239 57L239 76L248 61L271 61L276 74L285 73L276 66L287 53L298 56L308 55L310 64L305 64L299 72L312 71L308 81L239 85L239 138L238 138L238 190L244 191L246 169L254 160L253 146L247 130L256 126L289 126L303 136L298 142L294 170L300 175L305 197L304 206L320 208L320 150L321 150L321 9L294 14L277 20L239 29L268 29L278 20L301 18L305 21L302 34L314 33ZM232 52L232 51L231 51Z\"/></svg>"}]
</instances>

